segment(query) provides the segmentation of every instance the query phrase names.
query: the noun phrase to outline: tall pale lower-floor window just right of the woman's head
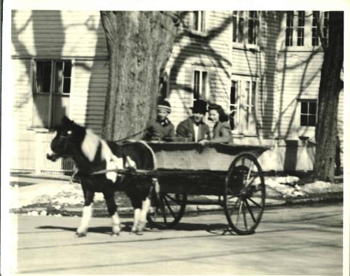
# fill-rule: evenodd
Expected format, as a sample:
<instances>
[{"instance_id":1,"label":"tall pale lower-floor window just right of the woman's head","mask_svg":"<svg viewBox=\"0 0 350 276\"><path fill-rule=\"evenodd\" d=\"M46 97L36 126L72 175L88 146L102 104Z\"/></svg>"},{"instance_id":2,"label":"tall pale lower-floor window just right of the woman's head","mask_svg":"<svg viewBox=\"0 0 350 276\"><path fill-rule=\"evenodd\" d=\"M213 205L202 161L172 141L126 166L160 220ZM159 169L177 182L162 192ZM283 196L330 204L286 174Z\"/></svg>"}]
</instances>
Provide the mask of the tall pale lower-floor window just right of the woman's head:
<instances>
[{"instance_id":1,"label":"tall pale lower-floor window just right of the woman's head","mask_svg":"<svg viewBox=\"0 0 350 276\"><path fill-rule=\"evenodd\" d=\"M252 77L234 76L230 89L230 126L236 133L254 134L254 99L257 81Z\"/></svg>"}]
</instances>

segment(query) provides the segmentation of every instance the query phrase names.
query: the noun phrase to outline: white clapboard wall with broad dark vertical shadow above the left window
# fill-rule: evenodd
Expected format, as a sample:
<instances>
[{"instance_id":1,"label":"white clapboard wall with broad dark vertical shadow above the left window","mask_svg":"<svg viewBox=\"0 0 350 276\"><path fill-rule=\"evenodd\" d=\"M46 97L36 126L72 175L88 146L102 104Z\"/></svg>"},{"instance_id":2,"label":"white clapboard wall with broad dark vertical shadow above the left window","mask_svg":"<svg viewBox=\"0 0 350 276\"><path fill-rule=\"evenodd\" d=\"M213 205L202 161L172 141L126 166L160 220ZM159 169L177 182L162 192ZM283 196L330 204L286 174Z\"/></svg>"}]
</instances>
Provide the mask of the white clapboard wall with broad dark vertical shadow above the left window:
<instances>
[{"instance_id":1,"label":"white clapboard wall with broad dark vertical shadow above the left window","mask_svg":"<svg viewBox=\"0 0 350 276\"><path fill-rule=\"evenodd\" d=\"M13 10L12 17L13 56L107 56L98 11Z\"/></svg>"}]
</instances>

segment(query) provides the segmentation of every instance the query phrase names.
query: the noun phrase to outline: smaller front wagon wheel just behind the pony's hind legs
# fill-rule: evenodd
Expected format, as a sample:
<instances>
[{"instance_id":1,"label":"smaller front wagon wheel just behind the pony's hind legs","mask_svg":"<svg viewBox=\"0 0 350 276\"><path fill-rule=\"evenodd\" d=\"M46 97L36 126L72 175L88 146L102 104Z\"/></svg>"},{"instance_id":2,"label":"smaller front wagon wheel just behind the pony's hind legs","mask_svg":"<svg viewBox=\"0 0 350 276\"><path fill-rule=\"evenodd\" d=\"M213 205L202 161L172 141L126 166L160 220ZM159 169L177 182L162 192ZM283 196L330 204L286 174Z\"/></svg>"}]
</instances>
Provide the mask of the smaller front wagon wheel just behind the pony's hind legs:
<instances>
[{"instance_id":1,"label":"smaller front wagon wheel just behind the pony's hind legs","mask_svg":"<svg viewBox=\"0 0 350 276\"><path fill-rule=\"evenodd\" d=\"M148 223L160 229L173 228L185 212L186 201L186 194L160 193L158 196L153 190L151 209L147 215Z\"/></svg>"}]
</instances>

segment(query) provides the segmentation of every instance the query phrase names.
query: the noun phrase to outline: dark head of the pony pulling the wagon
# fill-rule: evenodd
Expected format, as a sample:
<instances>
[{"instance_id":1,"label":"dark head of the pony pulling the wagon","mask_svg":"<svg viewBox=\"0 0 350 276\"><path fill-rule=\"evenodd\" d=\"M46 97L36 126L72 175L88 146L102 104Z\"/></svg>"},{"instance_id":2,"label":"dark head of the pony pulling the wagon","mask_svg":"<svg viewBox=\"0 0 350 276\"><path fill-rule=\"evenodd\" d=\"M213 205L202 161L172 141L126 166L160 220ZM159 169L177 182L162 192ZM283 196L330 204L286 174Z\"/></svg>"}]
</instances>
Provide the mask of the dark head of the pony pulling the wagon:
<instances>
[{"instance_id":1,"label":"dark head of the pony pulling the wagon","mask_svg":"<svg viewBox=\"0 0 350 276\"><path fill-rule=\"evenodd\" d=\"M56 161L59 157L72 157L75 155L77 147L83 143L85 138L85 128L64 116L61 119L61 124L56 126L55 130L56 136L50 145L52 152L47 154L47 158L51 161Z\"/></svg>"}]
</instances>

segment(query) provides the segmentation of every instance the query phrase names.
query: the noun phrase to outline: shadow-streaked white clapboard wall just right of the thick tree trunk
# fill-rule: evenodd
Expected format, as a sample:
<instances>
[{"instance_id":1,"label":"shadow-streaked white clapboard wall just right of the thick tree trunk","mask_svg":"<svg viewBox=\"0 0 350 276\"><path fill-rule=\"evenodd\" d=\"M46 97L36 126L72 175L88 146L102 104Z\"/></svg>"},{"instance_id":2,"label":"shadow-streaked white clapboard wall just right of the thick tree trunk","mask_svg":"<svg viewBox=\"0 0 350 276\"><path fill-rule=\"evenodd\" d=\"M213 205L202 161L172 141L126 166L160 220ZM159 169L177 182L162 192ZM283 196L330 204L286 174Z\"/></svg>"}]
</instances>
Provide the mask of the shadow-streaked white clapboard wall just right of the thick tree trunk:
<instances>
[{"instance_id":1,"label":"shadow-streaked white clapboard wall just right of the thick tree trunk","mask_svg":"<svg viewBox=\"0 0 350 276\"><path fill-rule=\"evenodd\" d=\"M170 94L174 124L191 114L193 104L193 71L203 68L209 72L207 100L221 103L228 108L230 87L230 12L210 11L207 16L207 32L204 36L188 36L180 33L176 38L172 55L167 62L170 71ZM189 26L190 13L185 18Z\"/></svg>"}]
</instances>

